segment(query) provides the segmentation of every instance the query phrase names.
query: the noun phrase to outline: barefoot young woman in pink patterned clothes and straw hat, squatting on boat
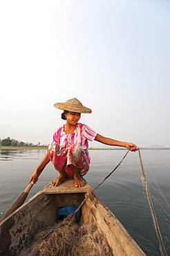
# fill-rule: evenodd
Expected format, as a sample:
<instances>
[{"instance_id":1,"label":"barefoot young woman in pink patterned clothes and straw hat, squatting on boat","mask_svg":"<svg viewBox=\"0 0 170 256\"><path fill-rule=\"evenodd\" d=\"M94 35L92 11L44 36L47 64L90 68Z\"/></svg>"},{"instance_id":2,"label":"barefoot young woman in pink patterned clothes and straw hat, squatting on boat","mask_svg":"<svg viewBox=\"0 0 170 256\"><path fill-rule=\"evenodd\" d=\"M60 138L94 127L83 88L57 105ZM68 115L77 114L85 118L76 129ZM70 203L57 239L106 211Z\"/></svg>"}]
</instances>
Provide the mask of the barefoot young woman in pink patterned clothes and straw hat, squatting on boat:
<instances>
[{"instance_id":1,"label":"barefoot young woman in pink patterned clothes and straw hat, squatting on boat","mask_svg":"<svg viewBox=\"0 0 170 256\"><path fill-rule=\"evenodd\" d=\"M59 176L51 182L51 185L57 186L68 177L73 177L75 187L82 187L85 184L82 176L88 172L91 163L88 154L88 140L97 140L111 146L126 147L132 152L138 150L138 147L133 143L106 138L97 134L88 125L80 123L81 113L91 113L92 111L84 107L76 98L67 102L56 103L54 107L64 110L62 119L66 120L66 124L54 132L47 154L30 176L28 183L36 183L44 167L51 161L55 170L59 172Z\"/></svg>"}]
</instances>

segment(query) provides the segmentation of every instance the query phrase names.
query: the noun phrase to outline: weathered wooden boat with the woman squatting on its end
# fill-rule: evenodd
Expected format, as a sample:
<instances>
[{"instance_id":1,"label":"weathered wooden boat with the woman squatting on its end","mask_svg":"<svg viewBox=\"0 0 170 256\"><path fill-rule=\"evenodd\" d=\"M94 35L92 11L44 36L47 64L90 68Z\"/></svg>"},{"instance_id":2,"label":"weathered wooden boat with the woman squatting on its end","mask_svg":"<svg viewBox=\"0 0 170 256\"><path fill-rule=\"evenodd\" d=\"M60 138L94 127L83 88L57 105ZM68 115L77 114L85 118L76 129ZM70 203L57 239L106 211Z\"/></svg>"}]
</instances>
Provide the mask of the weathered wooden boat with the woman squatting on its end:
<instances>
[{"instance_id":1,"label":"weathered wooden boat with the woman squatting on its end","mask_svg":"<svg viewBox=\"0 0 170 256\"><path fill-rule=\"evenodd\" d=\"M100 228L115 256L145 255L115 215L92 192L86 184L75 188L73 179L64 181L58 187L48 184L20 208L0 223L0 255L19 255L26 246L29 229L36 219L48 226L54 226L59 209L66 206L80 205L89 195L81 208L79 225L90 222Z\"/></svg>"}]
</instances>

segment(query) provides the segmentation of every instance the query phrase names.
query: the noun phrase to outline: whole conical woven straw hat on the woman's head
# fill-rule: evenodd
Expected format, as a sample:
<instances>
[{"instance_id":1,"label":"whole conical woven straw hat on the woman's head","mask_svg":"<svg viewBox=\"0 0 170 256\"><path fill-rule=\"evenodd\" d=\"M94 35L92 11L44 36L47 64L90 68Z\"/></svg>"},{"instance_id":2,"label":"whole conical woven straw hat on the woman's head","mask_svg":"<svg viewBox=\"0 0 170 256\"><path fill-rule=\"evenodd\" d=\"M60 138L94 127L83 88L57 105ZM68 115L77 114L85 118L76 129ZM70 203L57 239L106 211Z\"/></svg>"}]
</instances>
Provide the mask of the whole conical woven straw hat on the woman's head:
<instances>
[{"instance_id":1,"label":"whole conical woven straw hat on the woman's head","mask_svg":"<svg viewBox=\"0 0 170 256\"><path fill-rule=\"evenodd\" d=\"M55 103L54 107L57 107L57 109L77 112L77 113L91 113L91 109L88 109L88 107L84 107L77 98L73 98L70 100L67 100L63 103Z\"/></svg>"}]
</instances>

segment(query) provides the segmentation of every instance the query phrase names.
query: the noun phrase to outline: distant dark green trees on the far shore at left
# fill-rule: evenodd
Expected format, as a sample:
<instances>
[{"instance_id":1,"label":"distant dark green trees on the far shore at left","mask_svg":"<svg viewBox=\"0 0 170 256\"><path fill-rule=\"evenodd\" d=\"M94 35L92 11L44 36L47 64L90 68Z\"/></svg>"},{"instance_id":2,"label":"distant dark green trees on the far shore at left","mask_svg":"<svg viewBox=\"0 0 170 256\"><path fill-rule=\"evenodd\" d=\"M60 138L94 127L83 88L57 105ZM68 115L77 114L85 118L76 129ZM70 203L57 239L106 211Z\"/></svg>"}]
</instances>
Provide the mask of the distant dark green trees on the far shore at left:
<instances>
[{"instance_id":1,"label":"distant dark green trees on the far shore at left","mask_svg":"<svg viewBox=\"0 0 170 256\"><path fill-rule=\"evenodd\" d=\"M35 146L41 146L41 143L37 143L37 145L33 143L24 143L23 141L15 140L13 138L7 137L1 140L0 138L0 145L1 146L11 146L11 147L35 147ZM42 145L46 146L46 145Z\"/></svg>"}]
</instances>

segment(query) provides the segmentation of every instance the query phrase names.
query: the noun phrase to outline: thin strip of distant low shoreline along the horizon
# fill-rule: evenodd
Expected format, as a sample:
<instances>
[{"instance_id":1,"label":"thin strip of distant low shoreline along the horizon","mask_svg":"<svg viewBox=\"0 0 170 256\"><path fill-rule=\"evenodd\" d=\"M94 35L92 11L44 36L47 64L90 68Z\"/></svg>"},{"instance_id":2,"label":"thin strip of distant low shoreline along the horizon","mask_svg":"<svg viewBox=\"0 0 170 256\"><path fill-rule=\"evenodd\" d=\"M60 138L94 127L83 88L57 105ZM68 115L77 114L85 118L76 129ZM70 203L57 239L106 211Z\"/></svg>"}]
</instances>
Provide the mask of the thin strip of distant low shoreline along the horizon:
<instances>
[{"instance_id":1,"label":"thin strip of distant low shoreline along the horizon","mask_svg":"<svg viewBox=\"0 0 170 256\"><path fill-rule=\"evenodd\" d=\"M47 149L48 146L23 146L23 147L11 147L11 146L0 146L0 149ZM140 149L148 149L148 150L157 150L157 149L170 149L170 147L161 147L161 148L149 148L149 147L140 147ZM95 147L88 147L88 150L126 150L126 148L95 148Z\"/></svg>"}]
</instances>

